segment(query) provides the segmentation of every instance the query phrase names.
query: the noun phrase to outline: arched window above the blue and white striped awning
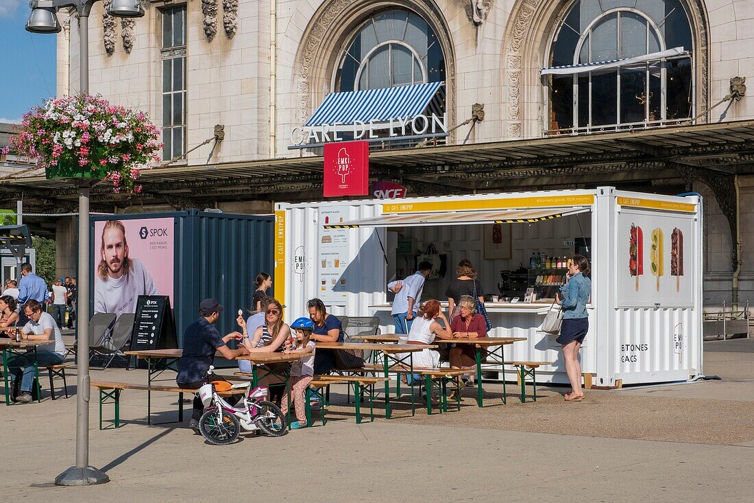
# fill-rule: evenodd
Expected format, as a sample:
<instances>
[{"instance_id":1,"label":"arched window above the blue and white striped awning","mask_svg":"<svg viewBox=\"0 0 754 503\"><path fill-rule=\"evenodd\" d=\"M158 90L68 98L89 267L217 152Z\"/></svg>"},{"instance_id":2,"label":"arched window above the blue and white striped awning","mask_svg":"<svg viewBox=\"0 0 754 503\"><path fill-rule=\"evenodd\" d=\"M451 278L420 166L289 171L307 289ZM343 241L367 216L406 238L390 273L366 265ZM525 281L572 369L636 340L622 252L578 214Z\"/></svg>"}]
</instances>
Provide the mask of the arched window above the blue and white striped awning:
<instances>
[{"instance_id":1,"label":"arched window above the blue and white striped awning","mask_svg":"<svg viewBox=\"0 0 754 503\"><path fill-rule=\"evenodd\" d=\"M445 57L437 35L412 11L373 14L345 48L336 73L336 91L445 80Z\"/></svg>"}]
</instances>

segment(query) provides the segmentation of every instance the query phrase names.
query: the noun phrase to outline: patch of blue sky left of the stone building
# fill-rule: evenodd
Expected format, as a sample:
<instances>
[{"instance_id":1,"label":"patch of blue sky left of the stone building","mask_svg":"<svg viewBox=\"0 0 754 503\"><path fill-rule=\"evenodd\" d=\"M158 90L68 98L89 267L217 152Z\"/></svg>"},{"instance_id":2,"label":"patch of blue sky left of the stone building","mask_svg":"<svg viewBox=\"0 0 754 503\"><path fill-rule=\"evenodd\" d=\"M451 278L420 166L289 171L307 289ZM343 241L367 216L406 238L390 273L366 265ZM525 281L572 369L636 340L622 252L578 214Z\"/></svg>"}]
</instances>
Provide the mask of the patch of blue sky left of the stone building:
<instances>
[{"instance_id":1,"label":"patch of blue sky left of the stone building","mask_svg":"<svg viewBox=\"0 0 754 503\"><path fill-rule=\"evenodd\" d=\"M0 122L20 119L55 94L56 36L29 33L27 0L0 0Z\"/></svg>"}]
</instances>

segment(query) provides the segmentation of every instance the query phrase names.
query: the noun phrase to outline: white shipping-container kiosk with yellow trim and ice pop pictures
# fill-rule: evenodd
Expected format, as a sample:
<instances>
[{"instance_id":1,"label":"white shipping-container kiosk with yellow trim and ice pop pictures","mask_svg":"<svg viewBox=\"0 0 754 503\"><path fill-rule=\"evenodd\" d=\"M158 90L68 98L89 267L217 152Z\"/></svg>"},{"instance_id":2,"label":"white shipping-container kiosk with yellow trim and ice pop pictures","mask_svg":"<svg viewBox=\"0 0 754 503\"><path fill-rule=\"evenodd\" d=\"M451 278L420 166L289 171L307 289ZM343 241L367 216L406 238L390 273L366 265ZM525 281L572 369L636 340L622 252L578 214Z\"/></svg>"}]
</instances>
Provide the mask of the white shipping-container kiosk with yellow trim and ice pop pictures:
<instances>
[{"instance_id":1,"label":"white shipping-container kiosk with yellow trim and ice pop pictures","mask_svg":"<svg viewBox=\"0 0 754 503\"><path fill-rule=\"evenodd\" d=\"M538 378L565 383L556 336L540 329L563 262L578 252L592 267L583 372L608 387L684 381L702 372L701 232L699 196L613 187L278 203L275 295L287 319L305 315L306 301L318 297L336 316L376 315L383 333L394 332L386 284L412 273L431 244L440 267L421 299L446 301L456 264L469 259L486 294L490 335L527 339L506 358L554 362ZM491 377L502 378L501 370Z\"/></svg>"}]
</instances>

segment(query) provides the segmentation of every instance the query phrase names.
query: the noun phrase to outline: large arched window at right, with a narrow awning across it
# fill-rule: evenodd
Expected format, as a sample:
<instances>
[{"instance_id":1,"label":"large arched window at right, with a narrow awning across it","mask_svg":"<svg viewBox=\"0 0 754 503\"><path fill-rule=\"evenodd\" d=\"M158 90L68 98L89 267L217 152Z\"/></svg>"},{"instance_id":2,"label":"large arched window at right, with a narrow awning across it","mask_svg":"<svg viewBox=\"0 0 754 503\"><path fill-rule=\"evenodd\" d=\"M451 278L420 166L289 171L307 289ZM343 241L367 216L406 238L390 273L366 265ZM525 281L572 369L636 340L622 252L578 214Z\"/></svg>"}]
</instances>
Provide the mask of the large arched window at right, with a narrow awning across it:
<instances>
[{"instance_id":1,"label":"large arched window at right, with a narrow awning across it","mask_svg":"<svg viewBox=\"0 0 754 503\"><path fill-rule=\"evenodd\" d=\"M644 128L693 116L693 39L681 0L576 0L561 19L549 63L571 68L547 76L550 133ZM684 52L668 56L674 48ZM590 66L615 60L622 61L608 69Z\"/></svg>"}]
</instances>

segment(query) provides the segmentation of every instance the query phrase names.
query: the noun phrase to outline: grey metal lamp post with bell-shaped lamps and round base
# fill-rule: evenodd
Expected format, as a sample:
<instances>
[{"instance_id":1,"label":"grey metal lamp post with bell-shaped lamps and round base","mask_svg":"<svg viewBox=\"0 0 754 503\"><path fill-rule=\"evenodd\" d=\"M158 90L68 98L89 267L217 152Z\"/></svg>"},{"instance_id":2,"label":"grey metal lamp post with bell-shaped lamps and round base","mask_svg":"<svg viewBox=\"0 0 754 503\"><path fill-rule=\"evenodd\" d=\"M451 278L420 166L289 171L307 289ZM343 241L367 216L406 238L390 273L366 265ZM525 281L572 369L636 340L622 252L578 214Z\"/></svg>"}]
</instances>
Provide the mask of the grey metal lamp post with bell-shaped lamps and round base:
<instances>
[{"instance_id":1,"label":"grey metal lamp post with bell-shaped lamps and round base","mask_svg":"<svg viewBox=\"0 0 754 503\"><path fill-rule=\"evenodd\" d=\"M26 30L32 33L60 32L57 11L72 7L78 12L81 93L89 93L89 14L97 0L32 0L32 14ZM116 17L142 17L140 0L112 0L108 14ZM109 482L101 470L89 466L89 188L92 182L78 184L78 360L76 393L76 464L58 475L59 486L89 486ZM96 183L96 181L94 182Z\"/></svg>"}]
</instances>

